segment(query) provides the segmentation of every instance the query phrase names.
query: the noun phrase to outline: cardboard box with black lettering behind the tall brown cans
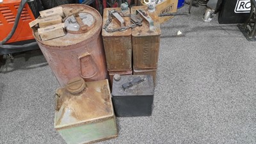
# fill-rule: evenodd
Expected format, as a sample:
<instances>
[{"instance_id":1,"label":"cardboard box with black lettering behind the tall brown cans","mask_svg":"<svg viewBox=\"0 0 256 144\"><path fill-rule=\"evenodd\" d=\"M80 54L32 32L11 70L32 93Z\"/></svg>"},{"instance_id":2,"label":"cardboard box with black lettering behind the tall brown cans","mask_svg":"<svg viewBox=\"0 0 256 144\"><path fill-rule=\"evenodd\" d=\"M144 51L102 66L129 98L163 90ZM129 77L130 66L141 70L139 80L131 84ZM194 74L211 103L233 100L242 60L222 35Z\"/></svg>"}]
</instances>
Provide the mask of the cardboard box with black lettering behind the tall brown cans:
<instances>
[{"instance_id":1,"label":"cardboard box with black lettering behind the tall brown cans","mask_svg":"<svg viewBox=\"0 0 256 144\"><path fill-rule=\"evenodd\" d=\"M141 0L142 5L147 5L144 3L143 0ZM162 3L156 4L156 13L176 13L177 12L177 4L178 0L164 0ZM162 24L163 22L166 22L169 19L172 19L174 16L168 16L168 17L159 17L159 22Z\"/></svg>"}]
</instances>

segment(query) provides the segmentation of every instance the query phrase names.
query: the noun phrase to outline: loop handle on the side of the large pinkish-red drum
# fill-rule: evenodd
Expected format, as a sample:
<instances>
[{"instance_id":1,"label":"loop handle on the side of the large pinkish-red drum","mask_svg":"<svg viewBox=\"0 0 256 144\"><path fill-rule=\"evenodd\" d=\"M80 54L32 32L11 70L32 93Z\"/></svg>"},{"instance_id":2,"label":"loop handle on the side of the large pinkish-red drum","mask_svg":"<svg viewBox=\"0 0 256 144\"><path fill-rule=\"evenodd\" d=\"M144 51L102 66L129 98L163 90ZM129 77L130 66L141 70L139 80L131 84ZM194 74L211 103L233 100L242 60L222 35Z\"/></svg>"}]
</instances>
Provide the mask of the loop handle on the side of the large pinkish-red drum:
<instances>
[{"instance_id":1,"label":"loop handle on the side of the large pinkish-red drum","mask_svg":"<svg viewBox=\"0 0 256 144\"><path fill-rule=\"evenodd\" d=\"M94 72L93 72L93 74L92 74L91 76L84 76L84 75L83 75L83 72L82 72L82 63L81 63L81 61L82 61L83 58L86 58L86 57L88 57L88 58L92 61L92 65L93 65L93 67L95 68L95 70L94 70ZM95 63L95 61L94 61L93 58L92 58L92 55L91 55L89 52L86 52L86 53L84 53L83 55L79 56L79 57L78 57L78 61L79 61L78 67L79 67L80 76L83 77L84 79L90 79L90 78L92 78L92 77L95 76L95 75L97 74L97 72L99 71L99 69L98 69L98 67L97 67L97 65L96 65L96 63Z\"/></svg>"}]
</instances>

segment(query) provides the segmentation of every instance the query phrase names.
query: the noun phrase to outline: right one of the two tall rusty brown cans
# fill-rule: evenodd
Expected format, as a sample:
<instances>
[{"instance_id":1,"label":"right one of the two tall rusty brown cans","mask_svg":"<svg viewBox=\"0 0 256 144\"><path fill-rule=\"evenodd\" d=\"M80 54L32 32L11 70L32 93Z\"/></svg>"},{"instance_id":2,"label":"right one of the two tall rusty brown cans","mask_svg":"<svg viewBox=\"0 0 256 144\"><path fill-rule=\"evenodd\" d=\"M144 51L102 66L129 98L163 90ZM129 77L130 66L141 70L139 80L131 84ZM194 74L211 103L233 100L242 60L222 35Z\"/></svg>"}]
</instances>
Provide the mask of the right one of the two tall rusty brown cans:
<instances>
[{"instance_id":1,"label":"right one of the two tall rusty brown cans","mask_svg":"<svg viewBox=\"0 0 256 144\"><path fill-rule=\"evenodd\" d=\"M132 29L132 56L136 69L157 68L161 29L155 12L147 6L133 6L131 14L143 19L142 26Z\"/></svg>"}]
</instances>

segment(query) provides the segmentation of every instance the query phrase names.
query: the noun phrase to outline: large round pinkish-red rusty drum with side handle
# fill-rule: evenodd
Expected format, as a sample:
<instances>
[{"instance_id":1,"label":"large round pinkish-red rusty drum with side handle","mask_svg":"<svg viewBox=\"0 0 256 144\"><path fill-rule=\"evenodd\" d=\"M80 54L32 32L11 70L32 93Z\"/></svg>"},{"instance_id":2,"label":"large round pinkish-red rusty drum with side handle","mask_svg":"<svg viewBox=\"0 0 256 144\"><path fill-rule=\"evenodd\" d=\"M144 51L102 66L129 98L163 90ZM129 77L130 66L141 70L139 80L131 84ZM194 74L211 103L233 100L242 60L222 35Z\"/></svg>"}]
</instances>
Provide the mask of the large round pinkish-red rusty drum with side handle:
<instances>
[{"instance_id":1,"label":"large round pinkish-red rusty drum with side handle","mask_svg":"<svg viewBox=\"0 0 256 144\"><path fill-rule=\"evenodd\" d=\"M61 7L66 17L63 21L67 35L42 41L34 31L36 41L58 82L65 86L69 79L78 76L85 81L108 78L100 35L100 13L83 4L65 4Z\"/></svg>"}]
</instances>

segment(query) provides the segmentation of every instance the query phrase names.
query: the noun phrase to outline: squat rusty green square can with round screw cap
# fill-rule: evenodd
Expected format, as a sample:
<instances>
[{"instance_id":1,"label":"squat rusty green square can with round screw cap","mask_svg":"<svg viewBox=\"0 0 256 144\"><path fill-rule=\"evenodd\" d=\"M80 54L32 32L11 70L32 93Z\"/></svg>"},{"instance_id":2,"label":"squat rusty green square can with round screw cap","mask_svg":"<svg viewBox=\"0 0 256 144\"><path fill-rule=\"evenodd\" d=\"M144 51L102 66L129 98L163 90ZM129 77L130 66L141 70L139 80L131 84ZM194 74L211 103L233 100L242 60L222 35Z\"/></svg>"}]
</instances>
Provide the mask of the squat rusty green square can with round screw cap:
<instances>
[{"instance_id":1,"label":"squat rusty green square can with round screw cap","mask_svg":"<svg viewBox=\"0 0 256 144\"><path fill-rule=\"evenodd\" d=\"M56 92L54 127L67 143L116 138L116 120L108 80L70 80Z\"/></svg>"}]
</instances>

